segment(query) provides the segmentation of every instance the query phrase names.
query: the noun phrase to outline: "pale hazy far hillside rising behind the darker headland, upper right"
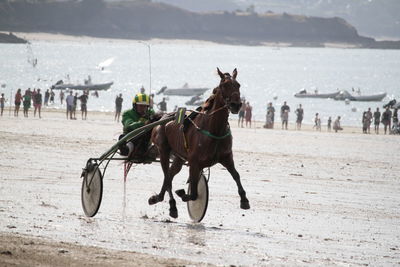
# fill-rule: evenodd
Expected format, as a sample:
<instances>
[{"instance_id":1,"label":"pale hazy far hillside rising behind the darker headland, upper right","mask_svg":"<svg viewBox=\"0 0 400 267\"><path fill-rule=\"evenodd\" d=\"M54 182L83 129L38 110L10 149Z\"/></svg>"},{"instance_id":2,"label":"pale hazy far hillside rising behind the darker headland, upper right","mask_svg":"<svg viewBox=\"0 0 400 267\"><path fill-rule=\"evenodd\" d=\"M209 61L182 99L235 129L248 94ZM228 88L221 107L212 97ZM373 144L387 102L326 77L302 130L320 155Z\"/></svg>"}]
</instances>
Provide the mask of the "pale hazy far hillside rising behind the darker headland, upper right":
<instances>
[{"instance_id":1,"label":"pale hazy far hillside rising behind the darker headland, upper right","mask_svg":"<svg viewBox=\"0 0 400 267\"><path fill-rule=\"evenodd\" d=\"M111 1L111 0L107 0ZM362 35L400 39L399 0L153 0L194 12L253 9L258 13L290 13L340 17Z\"/></svg>"}]
</instances>

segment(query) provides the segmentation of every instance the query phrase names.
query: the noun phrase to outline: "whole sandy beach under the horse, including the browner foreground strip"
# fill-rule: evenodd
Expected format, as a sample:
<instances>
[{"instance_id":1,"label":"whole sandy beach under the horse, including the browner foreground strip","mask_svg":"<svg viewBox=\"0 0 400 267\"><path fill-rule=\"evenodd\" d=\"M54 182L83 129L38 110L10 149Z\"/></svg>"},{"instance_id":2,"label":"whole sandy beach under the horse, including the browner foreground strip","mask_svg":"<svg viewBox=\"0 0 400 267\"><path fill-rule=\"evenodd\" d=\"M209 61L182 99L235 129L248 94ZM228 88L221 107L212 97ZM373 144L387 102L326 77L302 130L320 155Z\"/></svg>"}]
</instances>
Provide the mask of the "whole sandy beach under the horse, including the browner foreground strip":
<instances>
[{"instance_id":1,"label":"whole sandy beach under the horse, including the browner foreground strip","mask_svg":"<svg viewBox=\"0 0 400 267\"><path fill-rule=\"evenodd\" d=\"M182 202L171 219L166 200L147 204L161 187L159 164L134 166L124 184L114 162L100 211L86 218L81 169L115 143L121 126L110 113L79 118L0 117L0 265L400 264L398 136L233 121L250 210L239 208L235 183L217 165L203 222L192 223ZM174 189L186 188L187 175L184 168Z\"/></svg>"}]
</instances>

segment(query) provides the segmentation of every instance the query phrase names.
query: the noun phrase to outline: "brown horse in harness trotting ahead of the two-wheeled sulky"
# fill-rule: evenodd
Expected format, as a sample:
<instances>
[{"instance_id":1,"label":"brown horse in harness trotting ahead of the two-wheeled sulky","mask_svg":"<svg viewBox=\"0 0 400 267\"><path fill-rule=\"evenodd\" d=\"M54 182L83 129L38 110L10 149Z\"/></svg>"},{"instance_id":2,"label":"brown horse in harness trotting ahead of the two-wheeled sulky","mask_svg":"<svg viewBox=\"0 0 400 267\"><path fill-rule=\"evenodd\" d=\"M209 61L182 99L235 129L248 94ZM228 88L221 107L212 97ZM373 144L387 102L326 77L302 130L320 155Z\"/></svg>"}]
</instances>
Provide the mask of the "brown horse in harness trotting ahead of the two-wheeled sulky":
<instances>
[{"instance_id":1,"label":"brown horse in harness trotting ahead of the two-wheeled sulky","mask_svg":"<svg viewBox=\"0 0 400 267\"><path fill-rule=\"evenodd\" d=\"M164 172L164 182L160 193L149 198L153 205L164 200L165 192L170 196L170 216L178 217L176 202L172 194L172 179L182 169L185 161L189 165L190 195L183 189L176 191L183 201L197 199L197 183L204 168L221 163L232 175L240 195L240 207L249 209L250 204L246 192L240 182L240 175L235 169L232 155L232 136L228 123L229 111L237 114L241 107L240 84L236 81L237 71L222 73L219 86L203 104L197 116L190 120L187 130L182 131L181 125L174 121L160 125L152 131L152 141L160 152L161 167ZM170 155L175 158L170 165Z\"/></svg>"}]
</instances>

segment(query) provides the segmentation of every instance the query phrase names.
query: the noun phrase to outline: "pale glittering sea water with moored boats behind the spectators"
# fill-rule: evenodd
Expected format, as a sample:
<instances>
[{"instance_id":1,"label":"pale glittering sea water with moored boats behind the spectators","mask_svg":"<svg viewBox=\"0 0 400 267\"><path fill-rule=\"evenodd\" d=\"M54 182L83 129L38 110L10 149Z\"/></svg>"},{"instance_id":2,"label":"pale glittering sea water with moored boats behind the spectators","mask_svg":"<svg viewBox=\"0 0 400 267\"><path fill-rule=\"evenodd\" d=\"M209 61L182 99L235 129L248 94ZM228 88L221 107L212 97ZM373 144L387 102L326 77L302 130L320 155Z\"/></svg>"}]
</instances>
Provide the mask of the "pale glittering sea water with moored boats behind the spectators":
<instances>
[{"instance_id":1,"label":"pale glittering sea water with moored boats behind the spectators","mask_svg":"<svg viewBox=\"0 0 400 267\"><path fill-rule=\"evenodd\" d=\"M206 42L155 42L147 44L121 40L32 41L31 45L0 44L0 92L7 99L16 89L41 88L44 93L58 80L83 83L91 76L93 83L113 81L108 91L98 98L91 96L89 110L113 111L115 97L122 93L123 108L140 87L156 93L161 87L210 88L219 83L216 68L223 72L238 70L241 95L253 107L253 119L264 121L266 106L272 102L279 112L283 101L291 108L289 121L294 122L295 109L304 108L304 123L313 124L319 113L322 124L329 116L342 116L343 125L361 125L362 112L368 107L382 110L383 104L400 97L400 51L343 48L289 48L266 46L233 46ZM37 58L33 67L29 59ZM101 70L99 63L115 58ZM299 99L294 94L301 89L330 93L339 90L352 92L360 89L362 95L386 92L382 102L351 102L331 99ZM55 91L55 104L60 105ZM155 95L160 102L163 95ZM168 111L185 106L190 97L169 96ZM65 103L64 103L65 105ZM189 107L194 108L194 107ZM90 115L89 115L90 116ZM231 115L237 118L237 115ZM278 119L279 121L279 119ZM261 125L259 125L261 126Z\"/></svg>"}]
</instances>

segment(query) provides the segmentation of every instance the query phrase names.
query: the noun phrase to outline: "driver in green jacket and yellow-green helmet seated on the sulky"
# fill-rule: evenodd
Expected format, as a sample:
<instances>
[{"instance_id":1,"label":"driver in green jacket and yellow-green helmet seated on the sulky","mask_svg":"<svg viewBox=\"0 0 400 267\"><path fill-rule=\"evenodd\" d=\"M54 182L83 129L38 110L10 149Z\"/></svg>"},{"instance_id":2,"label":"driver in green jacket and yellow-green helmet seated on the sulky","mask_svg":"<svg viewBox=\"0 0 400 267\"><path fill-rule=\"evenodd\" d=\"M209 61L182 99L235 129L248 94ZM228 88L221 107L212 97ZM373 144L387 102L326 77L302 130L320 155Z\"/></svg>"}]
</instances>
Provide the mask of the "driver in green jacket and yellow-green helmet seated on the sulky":
<instances>
[{"instance_id":1,"label":"driver in green jacket and yellow-green helmet seated on the sulky","mask_svg":"<svg viewBox=\"0 0 400 267\"><path fill-rule=\"evenodd\" d=\"M143 93L135 95L132 101L132 108L122 114L123 134L119 139L153 120L154 110L149 106L150 97L148 95ZM150 145L150 136L151 131L135 140L129 141L125 145L121 145L121 155L129 158L144 156Z\"/></svg>"}]
</instances>

